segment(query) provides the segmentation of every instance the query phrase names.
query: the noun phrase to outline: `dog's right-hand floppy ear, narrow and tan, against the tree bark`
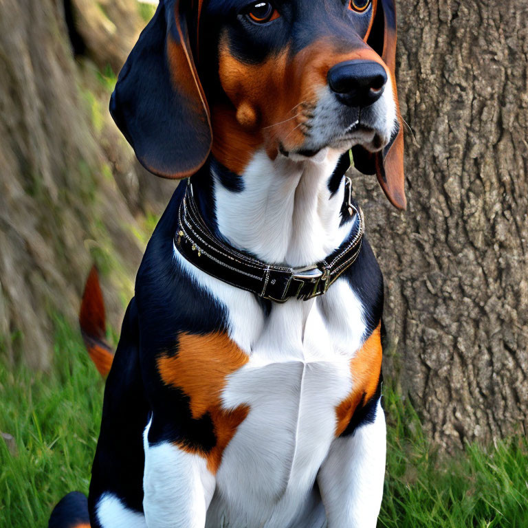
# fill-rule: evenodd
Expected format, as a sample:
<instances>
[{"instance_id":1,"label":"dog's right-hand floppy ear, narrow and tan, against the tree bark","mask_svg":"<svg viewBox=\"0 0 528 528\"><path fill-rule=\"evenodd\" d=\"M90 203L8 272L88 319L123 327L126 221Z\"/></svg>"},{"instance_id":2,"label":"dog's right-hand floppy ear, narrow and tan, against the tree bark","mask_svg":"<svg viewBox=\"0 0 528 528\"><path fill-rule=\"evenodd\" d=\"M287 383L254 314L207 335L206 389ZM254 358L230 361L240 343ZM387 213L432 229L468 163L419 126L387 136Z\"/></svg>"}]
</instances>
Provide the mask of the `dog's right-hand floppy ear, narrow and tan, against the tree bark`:
<instances>
[{"instance_id":1,"label":"dog's right-hand floppy ear, narrow and tan, against the tree bark","mask_svg":"<svg viewBox=\"0 0 528 528\"><path fill-rule=\"evenodd\" d=\"M355 168L364 174L375 174L393 206L405 209L404 126L399 113L396 89L396 11L395 0L377 0L377 8L367 44L379 54L391 72L396 103L397 124L391 141L382 152L370 153L360 145L352 148Z\"/></svg>"}]
</instances>

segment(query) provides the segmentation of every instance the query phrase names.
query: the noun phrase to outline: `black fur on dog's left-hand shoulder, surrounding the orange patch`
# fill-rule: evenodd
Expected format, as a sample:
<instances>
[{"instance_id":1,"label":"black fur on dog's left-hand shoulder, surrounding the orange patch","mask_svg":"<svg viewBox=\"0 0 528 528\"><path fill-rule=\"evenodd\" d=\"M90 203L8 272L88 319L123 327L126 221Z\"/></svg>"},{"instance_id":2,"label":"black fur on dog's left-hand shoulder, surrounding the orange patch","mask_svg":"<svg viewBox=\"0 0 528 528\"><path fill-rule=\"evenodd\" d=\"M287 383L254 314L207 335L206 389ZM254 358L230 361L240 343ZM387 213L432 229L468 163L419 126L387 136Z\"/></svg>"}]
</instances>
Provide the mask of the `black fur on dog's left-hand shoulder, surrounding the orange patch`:
<instances>
[{"instance_id":1,"label":"black fur on dog's left-hand shoulder, surrounding the orange patch","mask_svg":"<svg viewBox=\"0 0 528 528\"><path fill-rule=\"evenodd\" d=\"M148 243L136 281L141 366L153 410L148 441L174 441L208 452L216 445L210 417L193 419L188 396L179 388L166 386L157 370L159 355L177 355L179 333L203 335L226 330L223 307L190 281L174 258L176 212L185 184L180 187Z\"/></svg>"}]
</instances>

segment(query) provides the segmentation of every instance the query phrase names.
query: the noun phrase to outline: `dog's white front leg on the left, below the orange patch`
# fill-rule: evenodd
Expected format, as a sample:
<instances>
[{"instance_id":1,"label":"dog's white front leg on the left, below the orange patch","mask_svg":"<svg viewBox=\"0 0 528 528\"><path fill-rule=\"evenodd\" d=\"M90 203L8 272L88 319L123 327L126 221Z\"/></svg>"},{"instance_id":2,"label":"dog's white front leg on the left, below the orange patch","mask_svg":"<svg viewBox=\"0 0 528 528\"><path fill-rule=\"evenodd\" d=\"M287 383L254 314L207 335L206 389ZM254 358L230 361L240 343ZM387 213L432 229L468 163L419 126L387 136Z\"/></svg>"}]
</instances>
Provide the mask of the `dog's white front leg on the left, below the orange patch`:
<instances>
[{"instance_id":1,"label":"dog's white front leg on the left, below the orange patch","mask_svg":"<svg viewBox=\"0 0 528 528\"><path fill-rule=\"evenodd\" d=\"M203 528L215 478L207 461L170 442L145 445L143 478L148 528Z\"/></svg>"}]
</instances>

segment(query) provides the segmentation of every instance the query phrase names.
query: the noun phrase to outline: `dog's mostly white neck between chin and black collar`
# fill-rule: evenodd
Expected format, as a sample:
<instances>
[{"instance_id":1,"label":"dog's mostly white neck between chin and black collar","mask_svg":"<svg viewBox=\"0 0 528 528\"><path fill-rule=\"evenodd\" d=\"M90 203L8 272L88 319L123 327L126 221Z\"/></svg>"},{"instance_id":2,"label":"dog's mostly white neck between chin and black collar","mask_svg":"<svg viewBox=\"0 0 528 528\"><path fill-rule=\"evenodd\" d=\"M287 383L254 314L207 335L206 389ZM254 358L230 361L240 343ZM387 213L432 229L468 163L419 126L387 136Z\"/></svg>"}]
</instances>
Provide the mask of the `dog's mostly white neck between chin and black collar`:
<instances>
[{"instance_id":1,"label":"dog's mostly white neck between chin and black collar","mask_svg":"<svg viewBox=\"0 0 528 528\"><path fill-rule=\"evenodd\" d=\"M330 184L339 159L324 151L272 161L259 151L235 175L211 158L192 179L195 197L212 231L234 248L270 264L310 265L338 248L351 228L342 225L344 179Z\"/></svg>"}]
</instances>

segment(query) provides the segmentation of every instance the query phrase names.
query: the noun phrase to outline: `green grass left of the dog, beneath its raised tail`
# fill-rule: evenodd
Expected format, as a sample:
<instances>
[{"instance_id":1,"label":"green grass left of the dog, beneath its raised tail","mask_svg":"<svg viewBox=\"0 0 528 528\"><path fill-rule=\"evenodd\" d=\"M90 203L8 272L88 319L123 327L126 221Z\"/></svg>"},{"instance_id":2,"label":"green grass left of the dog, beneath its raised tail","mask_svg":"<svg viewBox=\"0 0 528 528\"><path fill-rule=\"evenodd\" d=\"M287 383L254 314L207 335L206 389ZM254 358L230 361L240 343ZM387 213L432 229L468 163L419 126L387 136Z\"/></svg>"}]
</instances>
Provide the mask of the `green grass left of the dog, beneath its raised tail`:
<instances>
[{"instance_id":1,"label":"green grass left of the dog, beneath its raised tail","mask_svg":"<svg viewBox=\"0 0 528 528\"><path fill-rule=\"evenodd\" d=\"M101 419L103 383L80 336L57 320L51 373L0 362L0 527L46 527L67 492L87 492Z\"/></svg>"}]
</instances>

